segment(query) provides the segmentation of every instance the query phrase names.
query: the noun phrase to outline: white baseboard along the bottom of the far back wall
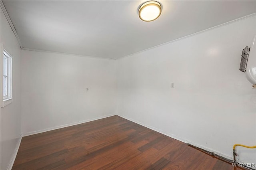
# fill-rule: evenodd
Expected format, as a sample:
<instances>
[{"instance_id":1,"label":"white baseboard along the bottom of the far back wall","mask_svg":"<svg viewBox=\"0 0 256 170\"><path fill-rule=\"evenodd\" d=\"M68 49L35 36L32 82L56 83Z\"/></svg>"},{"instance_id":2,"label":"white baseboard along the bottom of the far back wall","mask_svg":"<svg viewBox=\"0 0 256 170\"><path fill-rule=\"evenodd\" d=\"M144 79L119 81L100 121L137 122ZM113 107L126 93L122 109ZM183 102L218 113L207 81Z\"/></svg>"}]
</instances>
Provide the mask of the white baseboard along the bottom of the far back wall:
<instances>
[{"instance_id":1,"label":"white baseboard along the bottom of the far back wall","mask_svg":"<svg viewBox=\"0 0 256 170\"><path fill-rule=\"evenodd\" d=\"M98 120L98 119L103 119L103 118L111 117L111 116L115 116L115 115L116 115L116 114L111 114L111 115L96 117L96 118L94 118L94 119L87 119L87 120L79 121L79 122L75 122L75 123L68 123L68 124L66 124L66 125L60 125L60 126L57 126L57 127L46 128L46 129L43 129L43 130L37 130L37 131L33 131L33 132L27 132L27 133L23 133L23 134L22 134L22 137L24 137L24 136L29 136L29 135L32 135L32 134L38 134L38 133L42 133L42 132L47 132L47 131L50 131L50 130L56 130L56 129L59 129L59 128L70 127L70 126L74 126L74 125L78 125L78 124L86 123L86 122L90 122L90 121L96 121L96 120Z\"/></svg>"}]
</instances>

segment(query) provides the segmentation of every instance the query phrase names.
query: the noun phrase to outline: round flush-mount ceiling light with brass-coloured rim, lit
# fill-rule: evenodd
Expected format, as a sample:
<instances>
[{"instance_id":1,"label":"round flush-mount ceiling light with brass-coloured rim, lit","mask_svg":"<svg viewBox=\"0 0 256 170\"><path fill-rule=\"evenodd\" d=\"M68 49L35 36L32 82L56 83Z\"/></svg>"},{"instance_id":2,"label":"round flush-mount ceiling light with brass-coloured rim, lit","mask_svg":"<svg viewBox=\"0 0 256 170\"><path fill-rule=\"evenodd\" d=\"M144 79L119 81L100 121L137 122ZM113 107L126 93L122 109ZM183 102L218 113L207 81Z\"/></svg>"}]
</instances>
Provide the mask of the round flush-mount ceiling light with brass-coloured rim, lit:
<instances>
[{"instance_id":1,"label":"round flush-mount ceiling light with brass-coloured rim, lit","mask_svg":"<svg viewBox=\"0 0 256 170\"><path fill-rule=\"evenodd\" d=\"M161 15L162 5L157 1L147 1L139 6L138 12L142 21L154 21Z\"/></svg>"}]
</instances>

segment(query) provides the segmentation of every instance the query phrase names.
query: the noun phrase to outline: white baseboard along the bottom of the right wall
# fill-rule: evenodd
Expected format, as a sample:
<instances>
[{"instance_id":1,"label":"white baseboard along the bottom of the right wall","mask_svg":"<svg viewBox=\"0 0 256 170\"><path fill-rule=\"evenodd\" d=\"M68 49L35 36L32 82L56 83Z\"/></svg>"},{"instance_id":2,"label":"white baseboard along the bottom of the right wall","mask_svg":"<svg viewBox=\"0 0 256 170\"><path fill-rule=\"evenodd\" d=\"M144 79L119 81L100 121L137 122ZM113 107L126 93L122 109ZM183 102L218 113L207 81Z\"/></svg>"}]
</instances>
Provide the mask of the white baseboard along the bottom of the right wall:
<instances>
[{"instance_id":1,"label":"white baseboard along the bottom of the right wall","mask_svg":"<svg viewBox=\"0 0 256 170\"><path fill-rule=\"evenodd\" d=\"M117 114L117 115L118 115L118 114ZM202 145L200 145L200 144L195 144L195 143L193 143L193 142L191 142L191 141L189 141L189 140L186 140L186 139L184 139L184 138L181 138L180 136L176 136L176 135L174 135L174 134L170 134L170 133L168 133L168 132L164 132L164 131L162 131L162 130L160 130L160 129L158 129L158 128L155 128L155 127L146 125L146 124L144 124L144 123L141 123L141 122L139 122L139 121L136 121L136 120L134 120L134 119L131 119L131 118L128 118L128 117L125 117L125 116L121 116L121 115L118 115L118 116L120 116L120 117L122 117L122 118L124 118L124 119L127 119L127 120L129 120L129 121L132 121L132 122L134 122L134 123L137 123L137 124L139 124L139 125L142 125L142 126L144 126L144 127L150 128L151 130L154 130L154 131L156 131L156 132L159 132L159 133L161 133L161 134L164 134L164 135L166 135L166 136L169 136L169 137L171 137L171 138L174 138L174 139L179 140L179 141L181 141L181 142L184 142L184 143L186 143L186 144L187 144L187 143L192 144L192 145L194 145L194 146L196 146L196 147L198 147L198 148L207 150L207 151L209 151L209 152L214 152L215 154L217 154L217 155L219 155L219 156L222 156L222 157L224 157L224 158L233 160L233 157L232 157L232 156L228 156L228 155L226 155L226 154L222 154L222 153L220 153L220 152L216 152L216 150L212 150L212 149L207 148L207 147L205 147L205 146L202 146ZM230 148L230 153L233 153L232 148ZM239 162L239 163L245 163L245 162L241 162L241 161L237 161L237 162Z\"/></svg>"}]
</instances>

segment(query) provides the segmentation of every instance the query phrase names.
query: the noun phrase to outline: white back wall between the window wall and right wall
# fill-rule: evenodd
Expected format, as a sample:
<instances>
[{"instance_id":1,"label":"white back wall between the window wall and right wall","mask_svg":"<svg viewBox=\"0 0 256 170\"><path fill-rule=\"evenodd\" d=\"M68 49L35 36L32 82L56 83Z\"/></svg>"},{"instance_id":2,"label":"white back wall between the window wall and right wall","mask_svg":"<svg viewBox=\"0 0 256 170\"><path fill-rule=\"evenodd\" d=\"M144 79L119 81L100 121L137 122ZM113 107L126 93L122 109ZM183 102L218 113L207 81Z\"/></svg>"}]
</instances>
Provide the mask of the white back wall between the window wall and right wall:
<instances>
[{"instance_id":1,"label":"white back wall between the window wall and right wall","mask_svg":"<svg viewBox=\"0 0 256 170\"><path fill-rule=\"evenodd\" d=\"M108 115L116 115L115 60L22 50L22 134Z\"/></svg>"}]
</instances>

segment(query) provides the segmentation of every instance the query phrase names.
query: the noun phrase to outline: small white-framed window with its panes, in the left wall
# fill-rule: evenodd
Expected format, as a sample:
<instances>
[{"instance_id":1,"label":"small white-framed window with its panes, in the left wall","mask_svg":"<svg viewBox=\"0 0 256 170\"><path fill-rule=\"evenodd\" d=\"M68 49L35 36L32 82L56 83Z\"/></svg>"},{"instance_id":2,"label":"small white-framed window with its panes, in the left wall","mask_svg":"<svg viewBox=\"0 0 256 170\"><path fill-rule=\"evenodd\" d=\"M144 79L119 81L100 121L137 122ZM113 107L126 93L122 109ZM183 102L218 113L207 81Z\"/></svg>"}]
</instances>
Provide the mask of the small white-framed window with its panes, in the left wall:
<instances>
[{"instance_id":1,"label":"small white-framed window with its panes, in the left wall","mask_svg":"<svg viewBox=\"0 0 256 170\"><path fill-rule=\"evenodd\" d=\"M12 103L12 56L1 48L1 107Z\"/></svg>"}]
</instances>

